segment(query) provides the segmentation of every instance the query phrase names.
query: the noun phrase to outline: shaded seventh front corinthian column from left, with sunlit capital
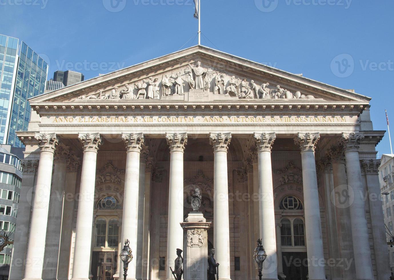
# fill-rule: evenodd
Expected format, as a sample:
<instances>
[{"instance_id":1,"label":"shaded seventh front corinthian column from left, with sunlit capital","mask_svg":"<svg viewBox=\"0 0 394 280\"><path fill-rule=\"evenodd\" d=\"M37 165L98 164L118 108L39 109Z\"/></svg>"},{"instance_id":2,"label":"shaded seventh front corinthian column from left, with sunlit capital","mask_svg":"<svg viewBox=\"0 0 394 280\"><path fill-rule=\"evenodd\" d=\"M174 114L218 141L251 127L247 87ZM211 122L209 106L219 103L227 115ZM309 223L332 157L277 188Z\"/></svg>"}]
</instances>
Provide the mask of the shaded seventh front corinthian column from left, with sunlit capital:
<instances>
[{"instance_id":1,"label":"shaded seventh front corinthian column from left, with sunlit capital","mask_svg":"<svg viewBox=\"0 0 394 280\"><path fill-rule=\"evenodd\" d=\"M305 211L305 239L309 260L309 280L324 280L324 254L318 181L316 176L315 148L320 134L298 134L294 143L301 150L302 179Z\"/></svg>"}]
</instances>

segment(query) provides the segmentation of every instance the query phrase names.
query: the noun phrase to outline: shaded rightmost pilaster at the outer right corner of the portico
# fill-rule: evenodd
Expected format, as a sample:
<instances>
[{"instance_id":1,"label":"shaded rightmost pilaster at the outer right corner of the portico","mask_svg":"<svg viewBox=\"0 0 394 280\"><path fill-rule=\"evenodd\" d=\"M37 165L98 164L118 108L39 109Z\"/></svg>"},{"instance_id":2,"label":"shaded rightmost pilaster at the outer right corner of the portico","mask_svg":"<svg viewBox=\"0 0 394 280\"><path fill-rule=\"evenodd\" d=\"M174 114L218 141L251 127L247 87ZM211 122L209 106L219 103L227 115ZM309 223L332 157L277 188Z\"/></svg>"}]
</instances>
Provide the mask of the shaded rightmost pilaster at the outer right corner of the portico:
<instances>
[{"instance_id":1,"label":"shaded rightmost pilaster at the outer right corner of the portico","mask_svg":"<svg viewBox=\"0 0 394 280\"><path fill-rule=\"evenodd\" d=\"M390 278L390 258L387 256L386 231L383 224L382 201L380 195L379 173L380 159L363 160L362 167L365 169L369 204L371 211L372 234L374 235L374 251L378 279Z\"/></svg>"}]
</instances>

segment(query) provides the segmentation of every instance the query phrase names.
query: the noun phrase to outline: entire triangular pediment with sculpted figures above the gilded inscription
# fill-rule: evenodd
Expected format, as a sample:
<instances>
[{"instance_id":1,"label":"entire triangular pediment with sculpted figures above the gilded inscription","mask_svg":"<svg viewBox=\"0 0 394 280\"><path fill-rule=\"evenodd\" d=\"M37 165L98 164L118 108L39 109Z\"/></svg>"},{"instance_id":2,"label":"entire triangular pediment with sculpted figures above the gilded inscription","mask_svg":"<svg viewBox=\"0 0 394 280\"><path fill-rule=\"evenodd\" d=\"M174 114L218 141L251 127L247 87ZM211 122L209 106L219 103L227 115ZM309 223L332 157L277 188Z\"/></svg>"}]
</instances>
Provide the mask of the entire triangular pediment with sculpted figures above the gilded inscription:
<instances>
[{"instance_id":1,"label":"entire triangular pediment with sculpted figures above the gilded inscription","mask_svg":"<svg viewBox=\"0 0 394 280\"><path fill-rule=\"evenodd\" d=\"M139 99L160 103L162 100L199 101L199 98L201 101L292 99L300 102L316 99L363 104L371 99L208 47L194 46L29 101L32 105L81 100L130 103Z\"/></svg>"}]
</instances>

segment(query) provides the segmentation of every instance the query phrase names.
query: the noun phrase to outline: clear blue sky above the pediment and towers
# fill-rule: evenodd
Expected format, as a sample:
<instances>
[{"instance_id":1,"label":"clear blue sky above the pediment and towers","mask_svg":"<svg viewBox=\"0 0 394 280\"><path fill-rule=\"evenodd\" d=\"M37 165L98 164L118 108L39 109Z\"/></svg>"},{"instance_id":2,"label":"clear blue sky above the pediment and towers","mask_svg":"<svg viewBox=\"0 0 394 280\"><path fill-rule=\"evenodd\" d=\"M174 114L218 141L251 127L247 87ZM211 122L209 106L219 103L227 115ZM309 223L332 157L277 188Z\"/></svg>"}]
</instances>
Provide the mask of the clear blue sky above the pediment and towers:
<instances>
[{"instance_id":1,"label":"clear blue sky above the pediment and towers","mask_svg":"<svg viewBox=\"0 0 394 280\"><path fill-rule=\"evenodd\" d=\"M392 0L201 0L202 45L372 97L394 124ZM0 33L86 78L197 45L193 0L0 0ZM392 126L394 136L394 125ZM390 153L388 135L377 147Z\"/></svg>"}]
</instances>

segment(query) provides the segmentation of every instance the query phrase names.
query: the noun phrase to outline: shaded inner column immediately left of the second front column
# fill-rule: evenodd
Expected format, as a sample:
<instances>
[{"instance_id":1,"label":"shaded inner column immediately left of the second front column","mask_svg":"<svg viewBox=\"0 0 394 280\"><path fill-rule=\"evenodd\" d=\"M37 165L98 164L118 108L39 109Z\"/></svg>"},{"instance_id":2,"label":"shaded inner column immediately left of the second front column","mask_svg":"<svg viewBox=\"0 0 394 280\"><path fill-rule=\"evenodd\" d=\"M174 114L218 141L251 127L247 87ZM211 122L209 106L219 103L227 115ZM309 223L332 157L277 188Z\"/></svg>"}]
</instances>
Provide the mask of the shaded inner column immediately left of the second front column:
<instances>
[{"instance_id":1,"label":"shaded inner column immediately left of the second front column","mask_svg":"<svg viewBox=\"0 0 394 280\"><path fill-rule=\"evenodd\" d=\"M61 220L59 268L57 278L59 280L67 280L69 278L72 224L74 222L74 197L77 178L76 176L80 165L80 158L69 158L67 161L65 197L63 202L63 218Z\"/></svg>"}]
</instances>

